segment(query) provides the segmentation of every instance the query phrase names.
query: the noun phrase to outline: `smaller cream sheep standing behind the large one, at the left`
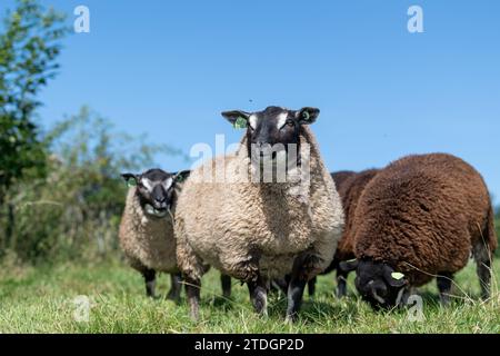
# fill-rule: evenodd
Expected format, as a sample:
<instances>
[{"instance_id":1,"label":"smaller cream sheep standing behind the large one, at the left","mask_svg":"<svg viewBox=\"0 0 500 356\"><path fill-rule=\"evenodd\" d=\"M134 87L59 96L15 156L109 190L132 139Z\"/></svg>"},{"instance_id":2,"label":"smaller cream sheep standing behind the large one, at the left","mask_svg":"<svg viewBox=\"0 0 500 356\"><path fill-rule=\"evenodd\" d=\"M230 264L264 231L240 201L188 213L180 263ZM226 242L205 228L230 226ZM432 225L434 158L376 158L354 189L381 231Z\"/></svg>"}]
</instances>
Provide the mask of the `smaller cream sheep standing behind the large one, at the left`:
<instances>
[{"instance_id":1,"label":"smaller cream sheep standing behind the large one, at the left","mask_svg":"<svg viewBox=\"0 0 500 356\"><path fill-rule=\"evenodd\" d=\"M149 169L141 175L123 174L130 189L119 230L121 248L132 268L144 278L146 295L154 297L156 274L170 274L168 298L178 300L181 276L177 267L173 214L190 171L169 174ZM207 267L206 267L207 268ZM224 297L231 290L230 277L221 276Z\"/></svg>"}]
</instances>

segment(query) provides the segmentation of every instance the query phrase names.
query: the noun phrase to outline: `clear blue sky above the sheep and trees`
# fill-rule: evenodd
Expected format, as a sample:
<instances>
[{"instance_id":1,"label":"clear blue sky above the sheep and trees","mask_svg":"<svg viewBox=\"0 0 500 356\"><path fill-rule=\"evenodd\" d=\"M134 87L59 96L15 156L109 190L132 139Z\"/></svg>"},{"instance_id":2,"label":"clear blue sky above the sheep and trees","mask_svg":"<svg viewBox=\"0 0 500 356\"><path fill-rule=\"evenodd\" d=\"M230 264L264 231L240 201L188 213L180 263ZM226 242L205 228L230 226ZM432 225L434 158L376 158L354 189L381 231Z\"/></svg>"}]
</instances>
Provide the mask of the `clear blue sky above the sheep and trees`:
<instances>
[{"instance_id":1,"label":"clear blue sky above the sheep and trees","mask_svg":"<svg viewBox=\"0 0 500 356\"><path fill-rule=\"evenodd\" d=\"M44 125L89 105L188 152L216 134L239 140L222 110L316 106L330 170L446 151L500 198L500 1L42 3L71 22L78 4L91 13L91 32L64 40L61 72L41 95ZM411 4L423 9L423 33L407 31Z\"/></svg>"}]
</instances>

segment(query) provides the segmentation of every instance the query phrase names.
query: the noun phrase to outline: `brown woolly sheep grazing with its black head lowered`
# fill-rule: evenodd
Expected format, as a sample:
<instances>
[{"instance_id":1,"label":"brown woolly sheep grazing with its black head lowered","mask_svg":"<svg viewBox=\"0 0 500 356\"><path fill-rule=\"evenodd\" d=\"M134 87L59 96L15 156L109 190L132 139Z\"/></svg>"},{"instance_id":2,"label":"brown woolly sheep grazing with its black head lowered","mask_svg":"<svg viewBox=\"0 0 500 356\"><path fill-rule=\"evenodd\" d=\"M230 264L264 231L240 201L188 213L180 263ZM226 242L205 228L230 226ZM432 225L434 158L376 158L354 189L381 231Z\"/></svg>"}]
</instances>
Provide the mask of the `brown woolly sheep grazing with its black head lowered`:
<instances>
[{"instance_id":1,"label":"brown woolly sheep grazing with its black head lowered","mask_svg":"<svg viewBox=\"0 0 500 356\"><path fill-rule=\"evenodd\" d=\"M453 274L470 255L489 297L493 209L482 177L462 159L430 154L392 162L364 188L353 225L357 260L341 267L357 270L356 287L373 308L404 304L433 276L449 304Z\"/></svg>"}]
</instances>

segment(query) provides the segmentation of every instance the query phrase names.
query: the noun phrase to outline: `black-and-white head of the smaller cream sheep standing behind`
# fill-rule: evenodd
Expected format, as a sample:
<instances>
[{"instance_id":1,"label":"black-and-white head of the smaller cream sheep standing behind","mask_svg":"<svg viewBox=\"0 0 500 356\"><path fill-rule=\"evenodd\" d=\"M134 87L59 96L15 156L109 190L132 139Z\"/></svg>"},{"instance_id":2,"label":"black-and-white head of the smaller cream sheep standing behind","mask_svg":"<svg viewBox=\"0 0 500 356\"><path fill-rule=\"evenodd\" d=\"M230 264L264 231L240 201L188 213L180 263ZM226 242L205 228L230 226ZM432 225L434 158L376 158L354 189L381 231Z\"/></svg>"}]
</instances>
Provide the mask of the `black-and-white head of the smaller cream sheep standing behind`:
<instances>
[{"instance_id":1,"label":"black-and-white head of the smaller cream sheep standing behind","mask_svg":"<svg viewBox=\"0 0 500 356\"><path fill-rule=\"evenodd\" d=\"M137 186L137 195L142 209L150 216L162 218L171 209L176 184L186 178L188 171L168 174L161 169L150 169L141 175L124 174L129 185Z\"/></svg>"}]
</instances>

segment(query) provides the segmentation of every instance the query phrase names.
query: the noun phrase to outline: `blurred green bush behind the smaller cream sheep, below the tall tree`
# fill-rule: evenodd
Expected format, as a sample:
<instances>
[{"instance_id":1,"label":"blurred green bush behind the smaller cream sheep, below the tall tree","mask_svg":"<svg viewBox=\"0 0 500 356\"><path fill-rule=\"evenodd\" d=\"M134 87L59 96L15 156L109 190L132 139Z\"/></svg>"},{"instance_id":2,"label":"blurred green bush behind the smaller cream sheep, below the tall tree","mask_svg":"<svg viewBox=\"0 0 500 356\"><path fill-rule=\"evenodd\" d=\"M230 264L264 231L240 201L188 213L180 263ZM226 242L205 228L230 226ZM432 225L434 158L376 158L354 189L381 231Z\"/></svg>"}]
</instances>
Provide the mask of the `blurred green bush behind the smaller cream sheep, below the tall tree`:
<instances>
[{"instance_id":1,"label":"blurred green bush behind the smaller cream sheep, below the tall tree","mask_svg":"<svg viewBox=\"0 0 500 356\"><path fill-rule=\"evenodd\" d=\"M87 108L57 125L47 135L47 177L19 181L7 194L3 250L29 263L116 254L126 196L120 172L153 166L159 152L179 154L144 140L116 132Z\"/></svg>"}]
</instances>

